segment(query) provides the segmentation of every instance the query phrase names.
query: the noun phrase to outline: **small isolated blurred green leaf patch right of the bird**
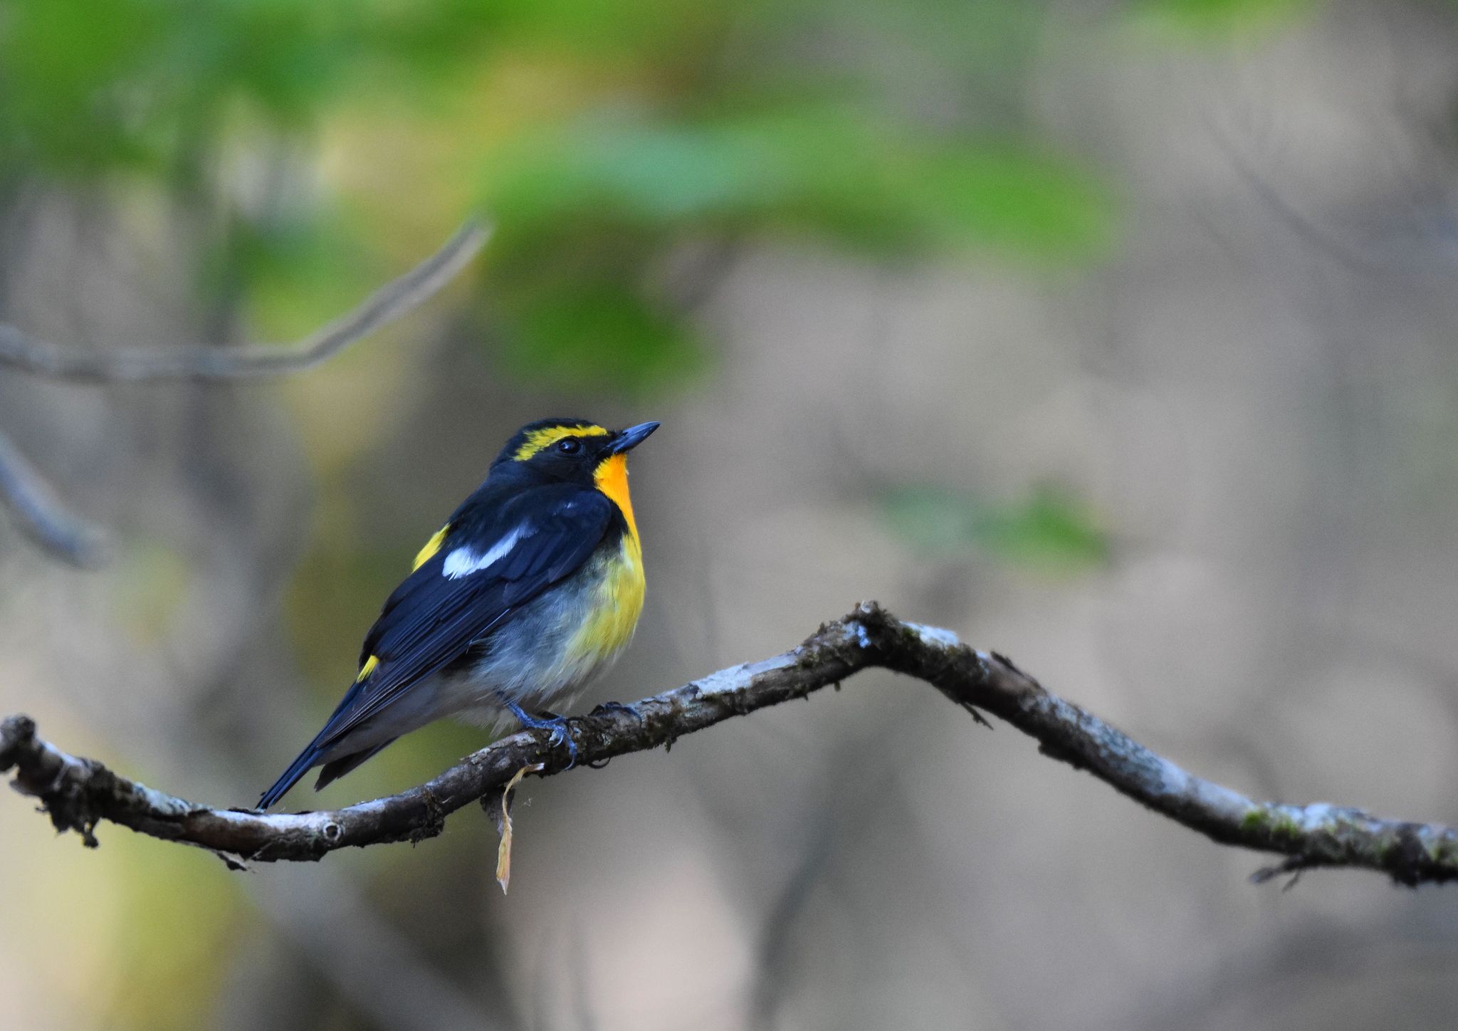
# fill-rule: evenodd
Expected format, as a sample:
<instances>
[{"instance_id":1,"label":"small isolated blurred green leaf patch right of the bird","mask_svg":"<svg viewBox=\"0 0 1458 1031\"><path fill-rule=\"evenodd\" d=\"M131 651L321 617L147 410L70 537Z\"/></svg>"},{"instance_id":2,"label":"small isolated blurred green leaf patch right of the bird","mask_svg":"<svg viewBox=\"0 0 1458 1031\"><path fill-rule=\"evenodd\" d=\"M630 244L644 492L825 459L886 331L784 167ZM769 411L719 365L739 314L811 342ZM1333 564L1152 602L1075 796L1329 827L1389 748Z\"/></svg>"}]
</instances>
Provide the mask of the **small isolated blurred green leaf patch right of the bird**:
<instances>
[{"instance_id":1,"label":"small isolated blurred green leaf patch right of the bird","mask_svg":"<svg viewBox=\"0 0 1458 1031\"><path fill-rule=\"evenodd\" d=\"M1089 506L1057 487L1038 487L1010 503L943 487L900 487L882 505L891 528L917 548L936 554L980 550L1045 576L1099 569L1112 550Z\"/></svg>"}]
</instances>

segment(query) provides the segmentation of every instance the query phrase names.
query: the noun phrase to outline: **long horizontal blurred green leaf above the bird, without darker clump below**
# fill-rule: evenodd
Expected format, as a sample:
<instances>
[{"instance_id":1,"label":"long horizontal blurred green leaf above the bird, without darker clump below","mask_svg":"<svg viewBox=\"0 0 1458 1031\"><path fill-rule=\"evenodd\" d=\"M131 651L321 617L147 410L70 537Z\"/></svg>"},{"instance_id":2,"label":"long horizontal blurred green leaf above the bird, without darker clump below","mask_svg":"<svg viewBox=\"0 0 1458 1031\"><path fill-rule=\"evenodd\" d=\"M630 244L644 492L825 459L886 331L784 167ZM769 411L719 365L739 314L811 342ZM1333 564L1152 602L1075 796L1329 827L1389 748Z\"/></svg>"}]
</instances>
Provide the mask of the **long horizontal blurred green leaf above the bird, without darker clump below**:
<instances>
[{"instance_id":1,"label":"long horizontal blurred green leaf above the bird, without darker clump below","mask_svg":"<svg viewBox=\"0 0 1458 1031\"><path fill-rule=\"evenodd\" d=\"M1083 260L1110 239L1091 176L1005 143L949 144L833 105L669 121L599 111L504 147L502 245L618 222L660 235L800 230L870 249L986 245Z\"/></svg>"}]
</instances>

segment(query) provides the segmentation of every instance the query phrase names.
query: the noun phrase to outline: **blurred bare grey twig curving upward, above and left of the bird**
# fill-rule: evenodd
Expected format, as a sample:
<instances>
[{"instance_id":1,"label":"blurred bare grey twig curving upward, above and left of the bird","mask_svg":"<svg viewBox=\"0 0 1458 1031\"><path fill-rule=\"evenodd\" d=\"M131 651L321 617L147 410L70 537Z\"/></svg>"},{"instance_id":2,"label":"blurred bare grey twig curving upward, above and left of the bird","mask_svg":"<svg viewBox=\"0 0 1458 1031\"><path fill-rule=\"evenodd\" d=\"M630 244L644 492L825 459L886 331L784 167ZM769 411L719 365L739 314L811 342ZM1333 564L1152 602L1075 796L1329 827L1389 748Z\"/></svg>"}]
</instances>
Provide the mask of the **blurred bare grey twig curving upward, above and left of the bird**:
<instances>
[{"instance_id":1,"label":"blurred bare grey twig curving upward, above and left of the bird","mask_svg":"<svg viewBox=\"0 0 1458 1031\"><path fill-rule=\"evenodd\" d=\"M430 299L477 255L488 235L486 226L467 222L439 251L293 349L239 346L85 350L38 340L0 322L0 367L76 384L179 379L211 382L302 372Z\"/></svg>"}]
</instances>

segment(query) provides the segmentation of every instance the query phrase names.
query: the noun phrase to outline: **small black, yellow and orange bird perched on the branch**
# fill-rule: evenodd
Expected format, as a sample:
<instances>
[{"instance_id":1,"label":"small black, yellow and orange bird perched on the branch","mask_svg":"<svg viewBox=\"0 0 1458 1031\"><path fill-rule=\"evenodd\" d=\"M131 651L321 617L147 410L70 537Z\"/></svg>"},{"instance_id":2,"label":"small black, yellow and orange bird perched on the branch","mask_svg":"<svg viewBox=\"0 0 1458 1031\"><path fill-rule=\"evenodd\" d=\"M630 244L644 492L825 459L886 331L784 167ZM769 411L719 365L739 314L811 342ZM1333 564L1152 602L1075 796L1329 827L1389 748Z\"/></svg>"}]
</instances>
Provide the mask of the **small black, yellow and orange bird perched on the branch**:
<instances>
[{"instance_id":1,"label":"small black, yellow and orange bird perched on the branch","mask_svg":"<svg viewBox=\"0 0 1458 1031\"><path fill-rule=\"evenodd\" d=\"M315 790L442 716L506 713L567 741L564 707L633 637L643 550L627 454L658 423L528 423L416 556L364 637L359 677L260 808L322 766Z\"/></svg>"}]
</instances>

